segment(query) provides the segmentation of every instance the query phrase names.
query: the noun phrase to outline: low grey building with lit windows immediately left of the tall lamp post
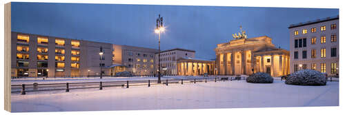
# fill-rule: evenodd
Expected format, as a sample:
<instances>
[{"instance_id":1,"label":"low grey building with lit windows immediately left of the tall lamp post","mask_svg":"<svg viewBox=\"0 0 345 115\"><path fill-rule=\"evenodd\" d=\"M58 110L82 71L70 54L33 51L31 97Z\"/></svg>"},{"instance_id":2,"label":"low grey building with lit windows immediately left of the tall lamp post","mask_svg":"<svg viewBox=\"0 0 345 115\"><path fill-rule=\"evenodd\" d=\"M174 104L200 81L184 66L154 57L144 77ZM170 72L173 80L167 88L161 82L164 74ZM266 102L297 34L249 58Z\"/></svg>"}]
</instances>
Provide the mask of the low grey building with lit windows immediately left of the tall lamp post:
<instances>
[{"instance_id":1,"label":"low grey building with lit windows immediately left of the tall lamp post","mask_svg":"<svg viewBox=\"0 0 345 115\"><path fill-rule=\"evenodd\" d=\"M117 65L112 67L112 74L121 71L128 71L133 75L155 74L155 53L158 50L129 45L112 45L112 48L112 64Z\"/></svg>"}]
</instances>

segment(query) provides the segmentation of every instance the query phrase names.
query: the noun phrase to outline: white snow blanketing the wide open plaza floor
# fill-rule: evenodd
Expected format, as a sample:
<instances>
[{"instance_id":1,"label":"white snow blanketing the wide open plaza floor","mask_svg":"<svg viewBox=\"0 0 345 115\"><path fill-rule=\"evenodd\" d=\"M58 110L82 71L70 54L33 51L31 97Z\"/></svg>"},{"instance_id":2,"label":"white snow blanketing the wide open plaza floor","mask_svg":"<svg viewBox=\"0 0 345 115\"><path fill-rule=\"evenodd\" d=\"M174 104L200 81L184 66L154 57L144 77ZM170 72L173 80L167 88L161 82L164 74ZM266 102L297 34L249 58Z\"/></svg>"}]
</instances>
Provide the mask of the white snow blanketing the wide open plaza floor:
<instances>
[{"instance_id":1,"label":"white snow blanketing the wide open plaza floor","mask_svg":"<svg viewBox=\"0 0 345 115\"><path fill-rule=\"evenodd\" d=\"M193 77L193 76L190 76ZM165 77L163 79L180 78ZM66 83L91 81L127 81L157 78L105 79L18 79L15 84ZM170 83L151 87L104 87L85 90L12 93L12 112L64 112L92 110L138 109L207 109L244 107L313 107L338 106L339 82L324 86L286 85L275 78L273 83L246 81L208 81L199 83Z\"/></svg>"}]
</instances>

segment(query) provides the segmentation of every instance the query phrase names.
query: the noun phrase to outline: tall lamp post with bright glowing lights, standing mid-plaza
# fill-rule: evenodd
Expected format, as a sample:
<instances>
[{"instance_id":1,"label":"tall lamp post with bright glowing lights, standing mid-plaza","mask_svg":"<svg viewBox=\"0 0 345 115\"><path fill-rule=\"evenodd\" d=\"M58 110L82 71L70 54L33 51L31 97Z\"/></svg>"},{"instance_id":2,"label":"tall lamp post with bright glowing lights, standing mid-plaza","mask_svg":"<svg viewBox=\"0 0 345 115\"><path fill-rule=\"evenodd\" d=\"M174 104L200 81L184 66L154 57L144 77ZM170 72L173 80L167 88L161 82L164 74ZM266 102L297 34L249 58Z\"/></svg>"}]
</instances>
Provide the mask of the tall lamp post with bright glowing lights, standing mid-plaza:
<instances>
[{"instance_id":1,"label":"tall lamp post with bright glowing lights, standing mid-plaza","mask_svg":"<svg viewBox=\"0 0 345 115\"><path fill-rule=\"evenodd\" d=\"M164 32L163 17L161 14L158 15L156 20L155 33L158 34L158 83L161 83L161 32Z\"/></svg>"}]
</instances>

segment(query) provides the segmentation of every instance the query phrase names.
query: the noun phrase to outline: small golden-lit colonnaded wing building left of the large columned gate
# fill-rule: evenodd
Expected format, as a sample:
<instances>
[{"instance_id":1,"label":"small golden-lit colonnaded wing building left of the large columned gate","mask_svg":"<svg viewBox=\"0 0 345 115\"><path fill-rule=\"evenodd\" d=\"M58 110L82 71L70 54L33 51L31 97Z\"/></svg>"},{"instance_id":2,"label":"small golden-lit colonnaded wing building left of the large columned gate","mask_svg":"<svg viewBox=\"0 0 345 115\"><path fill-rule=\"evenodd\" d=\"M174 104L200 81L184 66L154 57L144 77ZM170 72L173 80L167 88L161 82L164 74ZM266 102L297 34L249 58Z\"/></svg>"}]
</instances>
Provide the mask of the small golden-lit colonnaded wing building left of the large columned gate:
<instances>
[{"instance_id":1,"label":"small golden-lit colonnaded wing building left of the large columned gate","mask_svg":"<svg viewBox=\"0 0 345 115\"><path fill-rule=\"evenodd\" d=\"M215 61L188 57L177 59L177 75L199 76L204 74L215 74Z\"/></svg>"}]
</instances>

